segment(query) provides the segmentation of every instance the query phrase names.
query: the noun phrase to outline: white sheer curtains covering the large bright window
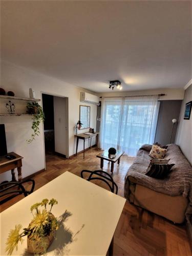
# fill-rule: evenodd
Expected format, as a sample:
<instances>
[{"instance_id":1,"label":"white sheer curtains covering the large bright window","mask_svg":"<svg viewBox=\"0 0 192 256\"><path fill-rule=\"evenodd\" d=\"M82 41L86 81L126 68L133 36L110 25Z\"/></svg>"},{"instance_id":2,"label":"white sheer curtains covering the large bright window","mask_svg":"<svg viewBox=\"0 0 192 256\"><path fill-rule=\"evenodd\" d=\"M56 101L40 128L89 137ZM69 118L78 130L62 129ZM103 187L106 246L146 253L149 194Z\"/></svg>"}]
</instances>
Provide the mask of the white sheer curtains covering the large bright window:
<instances>
[{"instance_id":1,"label":"white sheer curtains covering the large bright window","mask_svg":"<svg viewBox=\"0 0 192 256\"><path fill-rule=\"evenodd\" d=\"M104 98L102 103L102 149L113 146L135 156L142 144L154 143L158 95Z\"/></svg>"}]
</instances>

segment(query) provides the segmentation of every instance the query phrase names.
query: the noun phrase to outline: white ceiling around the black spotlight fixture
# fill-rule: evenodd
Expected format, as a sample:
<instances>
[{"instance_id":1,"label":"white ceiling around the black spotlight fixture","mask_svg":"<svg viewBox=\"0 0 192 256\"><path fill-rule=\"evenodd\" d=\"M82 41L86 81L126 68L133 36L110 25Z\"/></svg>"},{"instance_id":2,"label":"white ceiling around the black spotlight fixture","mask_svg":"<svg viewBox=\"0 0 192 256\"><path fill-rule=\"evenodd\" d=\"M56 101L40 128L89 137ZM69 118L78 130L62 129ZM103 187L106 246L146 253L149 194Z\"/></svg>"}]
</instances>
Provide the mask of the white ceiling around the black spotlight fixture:
<instances>
[{"instance_id":1,"label":"white ceiling around the black spotlight fixture","mask_svg":"<svg viewBox=\"0 0 192 256\"><path fill-rule=\"evenodd\" d=\"M191 2L2 1L2 58L95 92L183 88Z\"/></svg>"}]
</instances>

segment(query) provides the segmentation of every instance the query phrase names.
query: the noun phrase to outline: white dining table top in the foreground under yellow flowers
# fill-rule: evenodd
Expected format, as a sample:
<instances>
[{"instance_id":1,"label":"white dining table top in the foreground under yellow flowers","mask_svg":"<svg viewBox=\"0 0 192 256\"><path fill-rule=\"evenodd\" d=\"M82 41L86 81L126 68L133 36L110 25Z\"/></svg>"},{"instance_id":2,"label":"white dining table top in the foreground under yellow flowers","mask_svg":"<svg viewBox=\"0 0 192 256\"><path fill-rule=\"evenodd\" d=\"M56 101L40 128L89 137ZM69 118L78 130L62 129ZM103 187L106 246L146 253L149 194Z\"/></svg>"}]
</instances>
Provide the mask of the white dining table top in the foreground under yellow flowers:
<instances>
[{"instance_id":1,"label":"white dining table top in the foreground under yellow flowers","mask_svg":"<svg viewBox=\"0 0 192 256\"><path fill-rule=\"evenodd\" d=\"M52 213L67 219L56 231L48 255L106 255L113 241L125 199L98 185L66 172L0 214L1 255L6 255L6 240L16 224L28 227L33 216L30 206L42 199L55 198ZM13 255L28 255L27 237Z\"/></svg>"}]
</instances>

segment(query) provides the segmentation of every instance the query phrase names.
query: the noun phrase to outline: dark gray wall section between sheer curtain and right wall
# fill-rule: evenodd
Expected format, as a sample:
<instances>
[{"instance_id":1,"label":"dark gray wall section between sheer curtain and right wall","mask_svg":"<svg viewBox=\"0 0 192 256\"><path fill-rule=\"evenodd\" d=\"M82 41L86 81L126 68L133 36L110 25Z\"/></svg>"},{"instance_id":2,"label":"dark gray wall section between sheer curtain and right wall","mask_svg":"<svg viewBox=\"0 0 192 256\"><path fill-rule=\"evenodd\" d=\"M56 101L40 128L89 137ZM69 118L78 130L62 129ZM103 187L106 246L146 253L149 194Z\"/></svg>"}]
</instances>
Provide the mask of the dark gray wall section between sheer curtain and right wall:
<instances>
[{"instance_id":1,"label":"dark gray wall section between sheer curtain and right wall","mask_svg":"<svg viewBox=\"0 0 192 256\"><path fill-rule=\"evenodd\" d=\"M159 116L157 121L157 129L155 135L155 142L162 145L169 144L172 133L173 122L172 119L179 120L182 100L161 100L159 108ZM175 143L178 122L174 125L172 141Z\"/></svg>"}]
</instances>

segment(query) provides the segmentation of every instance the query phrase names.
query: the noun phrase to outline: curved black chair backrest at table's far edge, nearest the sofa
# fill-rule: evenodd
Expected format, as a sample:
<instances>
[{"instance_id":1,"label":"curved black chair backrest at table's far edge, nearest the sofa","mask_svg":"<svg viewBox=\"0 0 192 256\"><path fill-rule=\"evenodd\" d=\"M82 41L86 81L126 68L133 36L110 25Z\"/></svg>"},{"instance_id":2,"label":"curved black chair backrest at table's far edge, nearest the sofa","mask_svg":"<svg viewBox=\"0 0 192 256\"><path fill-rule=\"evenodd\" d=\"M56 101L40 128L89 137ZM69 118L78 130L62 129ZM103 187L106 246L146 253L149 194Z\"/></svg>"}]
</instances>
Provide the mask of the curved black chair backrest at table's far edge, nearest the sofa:
<instances>
[{"instance_id":1,"label":"curved black chair backrest at table's far edge, nearest the sofa","mask_svg":"<svg viewBox=\"0 0 192 256\"><path fill-rule=\"evenodd\" d=\"M88 181L90 180L101 180L105 182L109 187L110 190L117 195L118 193L118 186L113 180L112 176L103 170L81 170L81 178L84 179L83 173L89 173Z\"/></svg>"}]
</instances>

